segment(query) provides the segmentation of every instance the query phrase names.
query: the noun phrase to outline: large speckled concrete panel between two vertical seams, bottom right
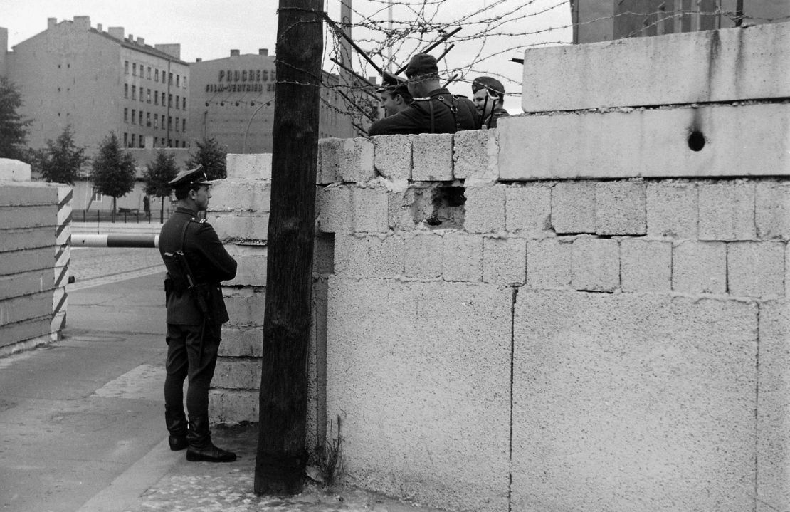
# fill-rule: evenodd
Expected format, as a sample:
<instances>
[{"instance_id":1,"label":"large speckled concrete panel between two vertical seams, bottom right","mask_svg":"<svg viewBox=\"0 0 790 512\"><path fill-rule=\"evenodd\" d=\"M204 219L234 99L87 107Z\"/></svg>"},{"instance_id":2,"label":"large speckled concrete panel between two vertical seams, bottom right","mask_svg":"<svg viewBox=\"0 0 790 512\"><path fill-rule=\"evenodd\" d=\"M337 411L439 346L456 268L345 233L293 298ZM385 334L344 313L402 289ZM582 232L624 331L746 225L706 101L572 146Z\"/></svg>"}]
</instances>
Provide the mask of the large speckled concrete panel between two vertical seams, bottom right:
<instances>
[{"instance_id":1,"label":"large speckled concrete panel between two vertical seams, bottom right","mask_svg":"<svg viewBox=\"0 0 790 512\"><path fill-rule=\"evenodd\" d=\"M757 322L739 301L519 292L513 510L754 510Z\"/></svg>"}]
</instances>

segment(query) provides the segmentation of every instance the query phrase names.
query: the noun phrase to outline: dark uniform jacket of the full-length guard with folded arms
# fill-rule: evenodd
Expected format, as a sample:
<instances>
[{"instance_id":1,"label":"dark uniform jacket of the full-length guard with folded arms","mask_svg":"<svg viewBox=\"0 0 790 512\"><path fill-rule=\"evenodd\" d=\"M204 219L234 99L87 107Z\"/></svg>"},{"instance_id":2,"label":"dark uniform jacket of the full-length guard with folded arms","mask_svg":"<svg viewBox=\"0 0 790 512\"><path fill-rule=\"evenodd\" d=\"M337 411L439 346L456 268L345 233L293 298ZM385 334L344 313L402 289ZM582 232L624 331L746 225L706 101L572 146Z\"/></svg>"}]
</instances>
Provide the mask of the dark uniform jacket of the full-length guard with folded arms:
<instances>
[{"instance_id":1,"label":"dark uniform jacket of the full-length guard with folded arms","mask_svg":"<svg viewBox=\"0 0 790 512\"><path fill-rule=\"evenodd\" d=\"M179 206L160 233L159 252L167 267L165 295L169 324L200 325L205 320L186 288L187 280L181 269L172 258L164 256L164 253L175 254L177 250L184 251L196 283L205 289L211 322L228 322L220 281L235 277L236 262L223 247L211 224L198 219L197 215L197 212Z\"/></svg>"}]
</instances>

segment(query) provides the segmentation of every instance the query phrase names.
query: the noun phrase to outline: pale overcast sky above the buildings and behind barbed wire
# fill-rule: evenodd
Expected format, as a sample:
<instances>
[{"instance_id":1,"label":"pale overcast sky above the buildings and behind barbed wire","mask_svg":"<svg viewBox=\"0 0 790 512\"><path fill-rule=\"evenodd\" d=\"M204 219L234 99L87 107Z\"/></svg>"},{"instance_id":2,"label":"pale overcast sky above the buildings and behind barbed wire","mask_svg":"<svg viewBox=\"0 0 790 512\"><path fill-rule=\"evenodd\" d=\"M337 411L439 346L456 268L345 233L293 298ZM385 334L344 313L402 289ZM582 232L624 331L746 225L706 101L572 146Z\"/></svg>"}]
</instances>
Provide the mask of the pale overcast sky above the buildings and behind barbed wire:
<instances>
[{"instance_id":1,"label":"pale overcast sky above the buildings and behind barbed wire","mask_svg":"<svg viewBox=\"0 0 790 512\"><path fill-rule=\"evenodd\" d=\"M387 0L352 0L356 11L354 22L363 15L374 15L378 20L386 20ZM399 2L412 4L418 0L393 0L393 18L397 21L408 21L415 15ZM435 3L435 0L431 0ZM143 37L145 43L180 43L181 58L186 62L194 62L195 58L210 60L230 55L230 50L238 49L242 54L258 53L259 48L268 48L269 54L275 53L276 40L276 8L277 0L132 0L130 2L111 2L107 0L2 0L0 26L8 28L9 47L20 43L47 28L47 18L55 17L58 22L72 20L75 16L89 16L91 26L102 24L106 31L109 27L123 27L126 35ZM197 6L197 7L196 7ZM328 0L327 9L333 19L339 18L340 0ZM493 7L492 7L493 6ZM513 55L522 51L510 51L513 47L529 47L536 44L568 43L570 29L561 28L551 32L539 32L549 27L567 27L570 24L570 7L567 0L447 0L433 14L434 21L458 21L469 15L464 29L458 36L476 36L476 41L458 43L457 47L446 57L446 67L463 68L473 66L465 76L465 82L450 87L452 92L471 96L468 81L480 74L496 73L503 77L509 92L506 107L511 112L518 111L520 97L514 96L521 88L521 66L509 62ZM513 21L495 31L483 31L483 25L473 23L474 13L480 9L489 10L489 15L501 13L512 16ZM513 16L520 11L521 16ZM542 12L542 11L546 12ZM534 14L534 15L532 15ZM479 33L476 34L475 31ZM510 33L510 36L499 36L497 32ZM530 33L539 32L539 33ZM517 35L513 36L513 33ZM483 39L483 35L488 37ZM383 39L380 34L355 29L354 37ZM481 37L477 37L481 36ZM429 38L432 40L433 38ZM327 46L332 41L327 40ZM372 42L360 43L368 50ZM331 48L327 48L329 52ZM408 45L401 49L401 54L410 54L413 48ZM501 55L495 55L501 51ZM438 55L437 51L432 52ZM394 55L397 64L408 61L409 55ZM379 61L381 58L378 59ZM384 65L384 62L380 62ZM327 61L325 69L333 65ZM363 69L363 63L355 62L355 70L363 76L375 73L371 68ZM510 92L513 92L511 96Z\"/></svg>"}]
</instances>

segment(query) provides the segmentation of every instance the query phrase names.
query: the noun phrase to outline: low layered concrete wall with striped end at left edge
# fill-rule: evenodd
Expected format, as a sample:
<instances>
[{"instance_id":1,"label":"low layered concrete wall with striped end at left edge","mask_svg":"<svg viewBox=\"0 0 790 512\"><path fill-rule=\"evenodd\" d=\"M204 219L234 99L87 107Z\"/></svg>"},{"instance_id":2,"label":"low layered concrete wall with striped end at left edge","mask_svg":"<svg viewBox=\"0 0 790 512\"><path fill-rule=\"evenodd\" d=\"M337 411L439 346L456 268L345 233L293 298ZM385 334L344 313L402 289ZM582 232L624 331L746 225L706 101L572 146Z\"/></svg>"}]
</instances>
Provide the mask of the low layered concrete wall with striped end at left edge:
<instances>
[{"instance_id":1,"label":"low layered concrete wall with striped end at left edge","mask_svg":"<svg viewBox=\"0 0 790 512\"><path fill-rule=\"evenodd\" d=\"M70 187L0 161L0 356L58 340L66 319Z\"/></svg>"}]
</instances>

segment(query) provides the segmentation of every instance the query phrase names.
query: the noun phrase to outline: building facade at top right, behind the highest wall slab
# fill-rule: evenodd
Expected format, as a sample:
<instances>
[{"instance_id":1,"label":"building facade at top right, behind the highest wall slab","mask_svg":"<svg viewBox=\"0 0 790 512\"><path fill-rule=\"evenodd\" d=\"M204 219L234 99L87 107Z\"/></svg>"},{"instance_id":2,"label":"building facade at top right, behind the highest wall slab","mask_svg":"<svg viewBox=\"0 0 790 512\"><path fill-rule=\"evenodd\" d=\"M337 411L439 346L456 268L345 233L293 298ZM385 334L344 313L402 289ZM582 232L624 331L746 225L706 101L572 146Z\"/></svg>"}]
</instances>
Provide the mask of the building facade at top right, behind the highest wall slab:
<instances>
[{"instance_id":1,"label":"building facade at top right, behind the highest wall slab","mask_svg":"<svg viewBox=\"0 0 790 512\"><path fill-rule=\"evenodd\" d=\"M572 0L574 43L790 21L788 0Z\"/></svg>"}]
</instances>

